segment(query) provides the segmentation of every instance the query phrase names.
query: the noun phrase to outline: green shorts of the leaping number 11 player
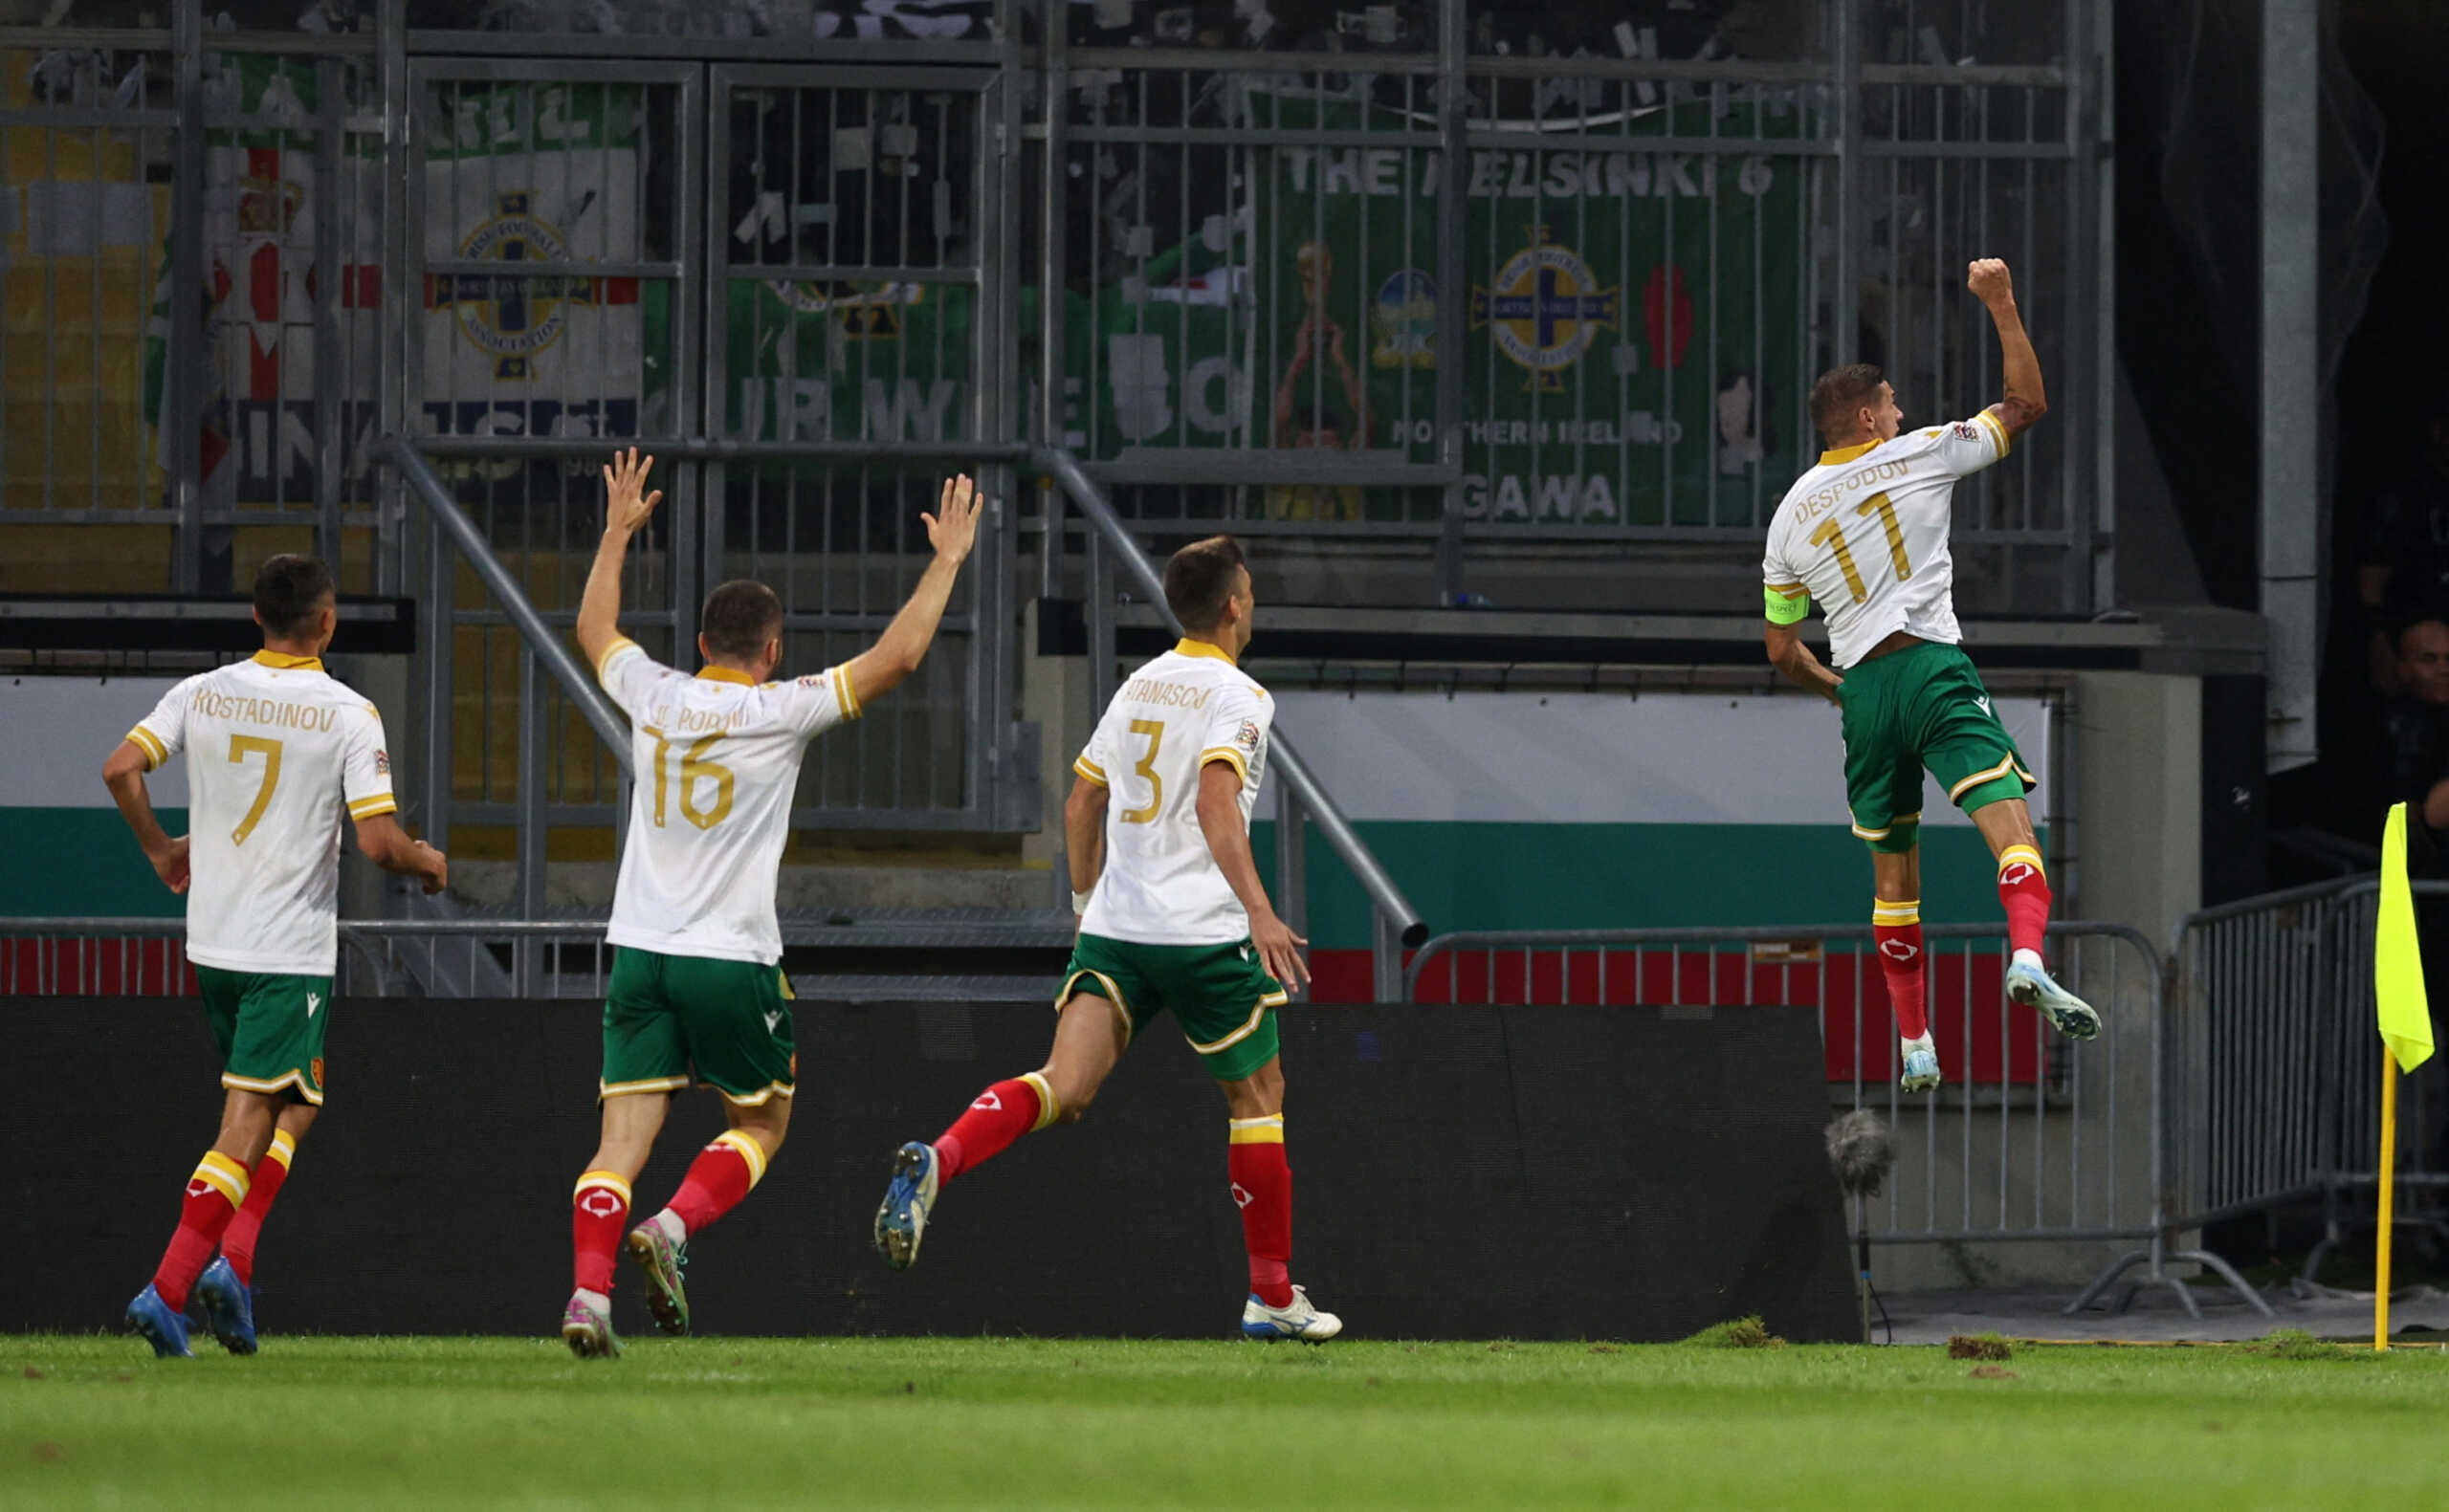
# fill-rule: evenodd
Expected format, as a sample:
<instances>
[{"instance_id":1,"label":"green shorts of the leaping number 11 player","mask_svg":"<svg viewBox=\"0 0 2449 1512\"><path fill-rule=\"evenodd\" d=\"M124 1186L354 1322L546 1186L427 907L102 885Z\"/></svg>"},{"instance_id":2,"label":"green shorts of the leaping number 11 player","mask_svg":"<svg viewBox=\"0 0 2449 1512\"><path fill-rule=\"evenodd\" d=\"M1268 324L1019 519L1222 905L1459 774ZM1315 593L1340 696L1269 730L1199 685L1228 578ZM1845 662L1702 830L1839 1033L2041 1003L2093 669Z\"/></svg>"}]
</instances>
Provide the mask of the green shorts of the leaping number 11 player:
<instances>
[{"instance_id":1,"label":"green shorts of the leaping number 11 player","mask_svg":"<svg viewBox=\"0 0 2449 1512\"><path fill-rule=\"evenodd\" d=\"M1922 768L1964 812L2038 783L1957 646L1918 641L1847 668L1844 800L1873 851L1910 851L1922 832Z\"/></svg>"}]
</instances>

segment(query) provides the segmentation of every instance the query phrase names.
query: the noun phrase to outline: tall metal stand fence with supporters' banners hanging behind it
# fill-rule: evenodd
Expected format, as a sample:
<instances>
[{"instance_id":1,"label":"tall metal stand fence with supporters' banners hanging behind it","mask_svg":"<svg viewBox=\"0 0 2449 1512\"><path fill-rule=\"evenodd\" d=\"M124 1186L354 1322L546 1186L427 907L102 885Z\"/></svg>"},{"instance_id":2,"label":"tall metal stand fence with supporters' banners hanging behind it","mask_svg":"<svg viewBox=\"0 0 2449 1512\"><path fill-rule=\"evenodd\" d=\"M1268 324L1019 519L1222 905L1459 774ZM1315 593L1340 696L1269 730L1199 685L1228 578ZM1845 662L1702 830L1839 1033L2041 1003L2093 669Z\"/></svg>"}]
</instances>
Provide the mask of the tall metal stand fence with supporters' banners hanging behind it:
<instances>
[{"instance_id":1,"label":"tall metal stand fence with supporters' banners hanging behind it","mask_svg":"<svg viewBox=\"0 0 2449 1512\"><path fill-rule=\"evenodd\" d=\"M1959 570L2003 612L2094 607L2101 0L1587 37L1462 0L1322 37L1011 0L938 42L806 7L605 24L642 2L0 27L0 531L135 531L10 555L69 563L47 587L198 592L313 541L353 592L429 599L451 798L507 820L514 626L377 440L416 438L561 617L600 453L639 438L669 497L629 582L649 648L757 575L808 665L874 634L928 489L970 465L1043 511L980 563L989 599L950 626L975 643L803 798L994 829L1021 533L1060 595L1087 541L1004 470L1026 448L1080 455L1139 528L1393 541L1423 599L1511 543L1753 550L1815 453L1820 367L1886 362L1915 418L1996 396L1962 264L2003 252L2057 413L1959 489ZM600 822L610 771L553 739L553 812Z\"/></svg>"}]
</instances>

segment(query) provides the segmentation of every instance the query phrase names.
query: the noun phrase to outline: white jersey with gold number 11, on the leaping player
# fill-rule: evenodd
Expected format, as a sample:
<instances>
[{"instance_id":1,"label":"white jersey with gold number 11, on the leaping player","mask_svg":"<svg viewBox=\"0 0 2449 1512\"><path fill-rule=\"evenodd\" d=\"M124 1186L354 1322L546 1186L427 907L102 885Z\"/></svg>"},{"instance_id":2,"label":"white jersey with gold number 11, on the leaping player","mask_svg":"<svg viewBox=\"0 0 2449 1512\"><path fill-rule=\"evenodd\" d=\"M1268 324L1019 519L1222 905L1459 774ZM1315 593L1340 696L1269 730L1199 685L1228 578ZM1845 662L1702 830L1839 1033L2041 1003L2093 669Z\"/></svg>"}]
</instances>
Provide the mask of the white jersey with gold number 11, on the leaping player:
<instances>
[{"instance_id":1,"label":"white jersey with gold number 11, on the leaping player","mask_svg":"<svg viewBox=\"0 0 2449 1512\"><path fill-rule=\"evenodd\" d=\"M1820 453L1768 521L1768 587L1802 585L1829 621L1829 661L1844 670L1905 631L1954 646L1954 577L1947 526L1957 480L2008 453L2006 426L1969 421L1905 431Z\"/></svg>"}]
</instances>

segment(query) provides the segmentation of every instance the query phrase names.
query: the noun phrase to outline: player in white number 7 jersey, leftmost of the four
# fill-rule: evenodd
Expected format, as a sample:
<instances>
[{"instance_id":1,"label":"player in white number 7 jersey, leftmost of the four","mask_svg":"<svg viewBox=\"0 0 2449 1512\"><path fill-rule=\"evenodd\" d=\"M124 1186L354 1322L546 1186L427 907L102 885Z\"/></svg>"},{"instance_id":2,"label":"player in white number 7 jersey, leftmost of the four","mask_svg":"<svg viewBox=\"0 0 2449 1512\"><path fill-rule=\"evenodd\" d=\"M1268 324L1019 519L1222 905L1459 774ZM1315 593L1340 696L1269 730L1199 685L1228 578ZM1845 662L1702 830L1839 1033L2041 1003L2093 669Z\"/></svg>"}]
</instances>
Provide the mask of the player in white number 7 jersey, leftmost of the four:
<instances>
[{"instance_id":1,"label":"player in white number 7 jersey, leftmost of the four","mask_svg":"<svg viewBox=\"0 0 2449 1512\"><path fill-rule=\"evenodd\" d=\"M443 854L392 817L382 714L323 670L338 619L323 563L267 560L255 575L264 648L171 687L103 761L144 859L186 893L186 957L223 1059L220 1135L186 1182L154 1280L127 1304L154 1355L189 1353L189 1302L223 1348L255 1353L255 1238L323 1106L340 820L375 866L429 893L448 876ZM144 773L179 751L189 834L171 839Z\"/></svg>"}]
</instances>

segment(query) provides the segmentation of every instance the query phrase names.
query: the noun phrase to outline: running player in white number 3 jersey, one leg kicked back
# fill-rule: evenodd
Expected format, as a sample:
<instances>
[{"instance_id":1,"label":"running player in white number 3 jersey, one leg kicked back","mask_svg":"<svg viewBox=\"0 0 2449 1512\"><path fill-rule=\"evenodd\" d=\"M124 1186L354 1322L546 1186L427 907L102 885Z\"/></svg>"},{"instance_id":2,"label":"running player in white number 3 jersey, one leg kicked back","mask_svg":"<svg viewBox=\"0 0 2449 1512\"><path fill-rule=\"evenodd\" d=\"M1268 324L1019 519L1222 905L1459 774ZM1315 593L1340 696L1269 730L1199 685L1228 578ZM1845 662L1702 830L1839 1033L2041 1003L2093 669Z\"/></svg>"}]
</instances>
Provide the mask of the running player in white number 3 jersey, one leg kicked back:
<instances>
[{"instance_id":1,"label":"running player in white number 3 jersey, one leg kicked back","mask_svg":"<svg viewBox=\"0 0 2449 1512\"><path fill-rule=\"evenodd\" d=\"M980 1091L933 1145L901 1145L877 1250L894 1270L918 1260L943 1184L1024 1133L1078 1123L1131 1035L1171 1008L1224 1094L1224 1160L1249 1250L1242 1333L1335 1338L1342 1321L1291 1280L1276 1008L1286 981L1308 981L1308 942L1276 917L1249 851L1276 707L1237 665L1256 607L1242 548L1210 536L1173 553L1166 607L1183 639L1131 673L1073 761L1063 839L1082 917L1056 993L1053 1052Z\"/></svg>"}]
</instances>

